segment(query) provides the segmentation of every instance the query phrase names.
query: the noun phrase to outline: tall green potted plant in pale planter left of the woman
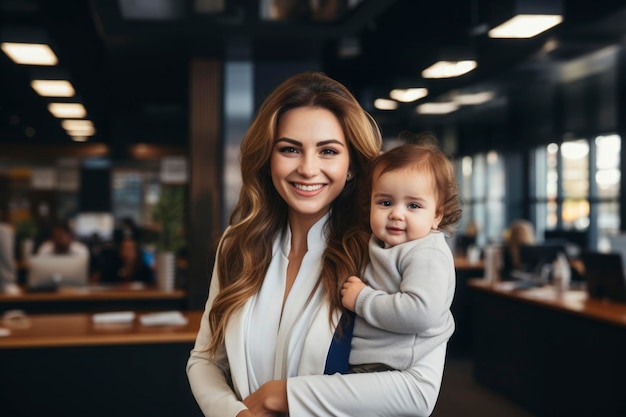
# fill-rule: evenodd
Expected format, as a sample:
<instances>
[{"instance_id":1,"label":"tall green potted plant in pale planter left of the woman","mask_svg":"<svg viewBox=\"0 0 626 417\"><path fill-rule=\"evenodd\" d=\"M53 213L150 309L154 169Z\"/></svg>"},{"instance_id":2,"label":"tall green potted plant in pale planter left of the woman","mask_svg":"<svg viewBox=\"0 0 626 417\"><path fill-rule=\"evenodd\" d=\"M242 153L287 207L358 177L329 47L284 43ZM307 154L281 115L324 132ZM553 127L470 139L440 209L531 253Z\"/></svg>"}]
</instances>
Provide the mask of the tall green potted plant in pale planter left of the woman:
<instances>
[{"instance_id":1,"label":"tall green potted plant in pale planter left of the woman","mask_svg":"<svg viewBox=\"0 0 626 417\"><path fill-rule=\"evenodd\" d=\"M176 252L187 243L184 227L185 189L182 186L163 186L159 200L152 209L152 219L157 225L157 284L161 289L172 290Z\"/></svg>"}]
</instances>

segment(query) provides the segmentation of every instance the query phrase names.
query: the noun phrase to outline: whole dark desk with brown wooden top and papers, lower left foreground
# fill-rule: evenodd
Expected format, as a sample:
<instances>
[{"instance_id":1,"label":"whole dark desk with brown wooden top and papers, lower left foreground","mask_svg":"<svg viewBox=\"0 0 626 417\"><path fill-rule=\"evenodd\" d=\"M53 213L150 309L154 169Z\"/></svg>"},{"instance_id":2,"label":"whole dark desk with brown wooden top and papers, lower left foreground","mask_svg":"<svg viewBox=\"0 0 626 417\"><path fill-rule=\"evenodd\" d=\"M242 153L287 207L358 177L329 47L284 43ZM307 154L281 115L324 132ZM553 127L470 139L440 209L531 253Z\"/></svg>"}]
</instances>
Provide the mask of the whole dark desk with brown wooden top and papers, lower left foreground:
<instances>
[{"instance_id":1,"label":"whole dark desk with brown wooden top and papers, lower left foreground","mask_svg":"<svg viewBox=\"0 0 626 417\"><path fill-rule=\"evenodd\" d=\"M187 325L162 327L30 316L0 337L0 414L201 417L185 365L202 312L184 314Z\"/></svg>"}]
</instances>

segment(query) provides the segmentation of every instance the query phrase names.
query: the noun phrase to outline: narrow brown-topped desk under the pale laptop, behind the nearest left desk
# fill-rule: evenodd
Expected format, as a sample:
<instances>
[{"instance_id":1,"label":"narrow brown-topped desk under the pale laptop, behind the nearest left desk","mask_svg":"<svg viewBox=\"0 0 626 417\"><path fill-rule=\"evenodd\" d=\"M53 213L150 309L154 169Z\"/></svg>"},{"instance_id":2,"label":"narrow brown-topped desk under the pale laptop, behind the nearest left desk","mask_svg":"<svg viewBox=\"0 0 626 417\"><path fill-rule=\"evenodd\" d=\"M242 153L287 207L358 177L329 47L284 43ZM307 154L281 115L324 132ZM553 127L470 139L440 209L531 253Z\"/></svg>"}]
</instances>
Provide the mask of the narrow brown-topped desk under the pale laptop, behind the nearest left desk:
<instances>
[{"instance_id":1,"label":"narrow brown-topped desk under the pale laptop, behind the nearest left desk","mask_svg":"<svg viewBox=\"0 0 626 417\"><path fill-rule=\"evenodd\" d=\"M54 292L0 293L0 313L20 309L27 313L69 313L115 310L183 310L186 292L136 289L128 284L61 288Z\"/></svg>"}]
</instances>

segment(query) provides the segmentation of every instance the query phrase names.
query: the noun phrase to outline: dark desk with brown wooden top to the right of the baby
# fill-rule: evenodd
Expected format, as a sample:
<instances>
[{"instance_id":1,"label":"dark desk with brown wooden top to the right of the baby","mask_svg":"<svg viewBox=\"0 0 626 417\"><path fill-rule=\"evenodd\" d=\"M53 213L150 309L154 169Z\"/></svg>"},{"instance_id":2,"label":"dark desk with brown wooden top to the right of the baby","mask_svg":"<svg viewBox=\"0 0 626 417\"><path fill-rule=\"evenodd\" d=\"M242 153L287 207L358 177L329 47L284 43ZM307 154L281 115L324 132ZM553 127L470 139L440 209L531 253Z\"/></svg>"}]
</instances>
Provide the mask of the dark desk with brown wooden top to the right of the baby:
<instances>
[{"instance_id":1,"label":"dark desk with brown wooden top to the right of the baby","mask_svg":"<svg viewBox=\"0 0 626 417\"><path fill-rule=\"evenodd\" d=\"M472 280L474 376L539 417L626 416L626 304Z\"/></svg>"}]
</instances>

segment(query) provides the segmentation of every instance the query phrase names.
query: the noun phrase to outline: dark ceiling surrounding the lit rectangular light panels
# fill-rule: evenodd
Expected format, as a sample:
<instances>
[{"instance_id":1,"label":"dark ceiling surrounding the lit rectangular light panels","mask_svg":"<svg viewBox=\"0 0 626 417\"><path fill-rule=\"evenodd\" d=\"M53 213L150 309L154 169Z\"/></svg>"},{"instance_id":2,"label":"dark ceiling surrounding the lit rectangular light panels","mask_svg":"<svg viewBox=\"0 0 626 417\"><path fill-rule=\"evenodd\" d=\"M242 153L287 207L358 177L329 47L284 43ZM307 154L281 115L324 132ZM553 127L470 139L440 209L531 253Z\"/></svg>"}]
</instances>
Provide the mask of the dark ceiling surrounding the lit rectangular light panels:
<instances>
[{"instance_id":1,"label":"dark ceiling surrounding the lit rectangular light panels","mask_svg":"<svg viewBox=\"0 0 626 417\"><path fill-rule=\"evenodd\" d=\"M30 88L40 76L69 77L96 126L93 142L178 143L187 137L190 59L227 59L232 45L243 43L254 61L319 62L393 131L420 123L416 103L393 112L372 107L393 87L424 86L432 99L517 82L520 68L533 62L570 60L621 44L626 34L623 0L563 0L564 22L551 31L530 40L489 39L484 27L506 1L322 0L317 4L327 8L311 12L303 6L316 2L224 0L216 11L206 7L219 0L0 0L1 40L17 28L43 37L59 58L55 68L31 67L0 53L0 146L70 142L47 110L51 100ZM284 16L262 19L266 3L281 6ZM355 40L358 55L341 57L342 42ZM548 40L558 47L542 54ZM476 70L456 79L420 77L442 51L459 48L473 51Z\"/></svg>"}]
</instances>

